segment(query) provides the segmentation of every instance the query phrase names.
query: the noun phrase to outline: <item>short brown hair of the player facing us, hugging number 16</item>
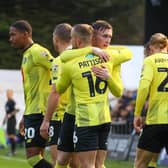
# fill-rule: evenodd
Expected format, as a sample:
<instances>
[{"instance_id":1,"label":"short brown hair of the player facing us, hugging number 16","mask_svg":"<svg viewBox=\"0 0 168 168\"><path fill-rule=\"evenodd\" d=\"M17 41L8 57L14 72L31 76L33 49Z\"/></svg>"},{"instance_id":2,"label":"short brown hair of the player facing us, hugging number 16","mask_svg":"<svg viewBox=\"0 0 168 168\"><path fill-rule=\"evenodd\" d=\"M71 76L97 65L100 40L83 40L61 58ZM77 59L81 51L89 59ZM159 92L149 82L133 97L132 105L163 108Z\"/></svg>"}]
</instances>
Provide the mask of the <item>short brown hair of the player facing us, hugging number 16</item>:
<instances>
[{"instance_id":1,"label":"short brown hair of the player facing us, hugging number 16","mask_svg":"<svg viewBox=\"0 0 168 168\"><path fill-rule=\"evenodd\" d=\"M96 20L92 23L92 27L94 30L105 30L105 29L112 29L112 26L110 23L108 23L105 20Z\"/></svg>"}]
</instances>

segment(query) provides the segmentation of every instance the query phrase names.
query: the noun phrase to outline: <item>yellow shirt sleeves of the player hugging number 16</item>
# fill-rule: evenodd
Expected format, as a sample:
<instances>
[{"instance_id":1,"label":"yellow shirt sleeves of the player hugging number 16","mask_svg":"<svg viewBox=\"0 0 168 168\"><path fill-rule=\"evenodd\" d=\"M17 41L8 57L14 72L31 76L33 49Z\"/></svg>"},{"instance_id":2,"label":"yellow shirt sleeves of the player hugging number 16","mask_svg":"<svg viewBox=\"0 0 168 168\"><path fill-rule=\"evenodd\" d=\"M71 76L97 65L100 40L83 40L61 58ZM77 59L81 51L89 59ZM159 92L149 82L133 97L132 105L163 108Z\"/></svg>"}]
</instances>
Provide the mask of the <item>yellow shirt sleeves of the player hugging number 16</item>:
<instances>
[{"instance_id":1,"label":"yellow shirt sleeves of the player hugging number 16","mask_svg":"<svg viewBox=\"0 0 168 168\"><path fill-rule=\"evenodd\" d=\"M113 62L113 71L110 79L108 80L108 86L111 93L114 96L119 97L122 95L124 88L120 73L121 64L132 58L132 52L125 46L109 46L105 51L109 54L110 60ZM83 56L89 53L92 53L92 47L67 50L64 51L60 57L62 62L66 62L78 56Z\"/></svg>"}]
</instances>

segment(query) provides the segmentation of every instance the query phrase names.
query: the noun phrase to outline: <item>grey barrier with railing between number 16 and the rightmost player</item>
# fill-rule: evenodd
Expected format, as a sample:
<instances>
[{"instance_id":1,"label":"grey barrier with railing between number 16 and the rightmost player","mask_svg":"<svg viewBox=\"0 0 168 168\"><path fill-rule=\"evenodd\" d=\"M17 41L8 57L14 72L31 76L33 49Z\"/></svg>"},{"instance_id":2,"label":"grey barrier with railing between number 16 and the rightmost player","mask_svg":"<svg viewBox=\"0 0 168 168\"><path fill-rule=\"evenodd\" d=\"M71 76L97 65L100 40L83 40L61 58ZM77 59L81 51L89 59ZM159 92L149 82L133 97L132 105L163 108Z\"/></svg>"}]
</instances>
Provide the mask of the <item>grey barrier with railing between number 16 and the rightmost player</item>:
<instances>
[{"instance_id":1,"label":"grey barrier with railing between number 16 and the rightmost player","mask_svg":"<svg viewBox=\"0 0 168 168\"><path fill-rule=\"evenodd\" d=\"M132 123L113 122L108 137L107 157L113 160L135 158L138 135Z\"/></svg>"}]
</instances>

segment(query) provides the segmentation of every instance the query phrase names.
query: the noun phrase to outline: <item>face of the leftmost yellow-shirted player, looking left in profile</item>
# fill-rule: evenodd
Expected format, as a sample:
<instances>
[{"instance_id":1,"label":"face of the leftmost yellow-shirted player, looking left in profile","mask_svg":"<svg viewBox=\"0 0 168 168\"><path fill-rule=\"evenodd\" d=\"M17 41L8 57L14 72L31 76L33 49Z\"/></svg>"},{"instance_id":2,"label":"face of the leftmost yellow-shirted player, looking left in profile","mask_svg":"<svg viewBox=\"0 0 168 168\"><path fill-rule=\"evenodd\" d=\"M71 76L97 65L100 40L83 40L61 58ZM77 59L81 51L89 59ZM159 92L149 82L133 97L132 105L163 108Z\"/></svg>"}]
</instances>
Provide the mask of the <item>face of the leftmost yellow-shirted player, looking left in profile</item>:
<instances>
[{"instance_id":1,"label":"face of the leftmost yellow-shirted player, looking left in profile","mask_svg":"<svg viewBox=\"0 0 168 168\"><path fill-rule=\"evenodd\" d=\"M15 27L10 27L9 42L12 47L23 49L25 47L25 33L17 30Z\"/></svg>"}]
</instances>

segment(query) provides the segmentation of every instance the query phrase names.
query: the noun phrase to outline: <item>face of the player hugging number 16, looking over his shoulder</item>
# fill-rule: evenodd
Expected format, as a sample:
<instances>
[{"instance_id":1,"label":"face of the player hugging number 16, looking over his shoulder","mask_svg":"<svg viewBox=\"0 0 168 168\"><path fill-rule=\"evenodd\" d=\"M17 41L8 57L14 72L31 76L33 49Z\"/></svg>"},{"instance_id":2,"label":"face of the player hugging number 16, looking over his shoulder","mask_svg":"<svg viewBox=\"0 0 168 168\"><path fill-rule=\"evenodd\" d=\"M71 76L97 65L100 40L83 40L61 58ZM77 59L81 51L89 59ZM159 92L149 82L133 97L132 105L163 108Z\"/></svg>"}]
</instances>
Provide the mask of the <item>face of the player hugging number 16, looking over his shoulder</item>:
<instances>
[{"instance_id":1,"label":"face of the player hugging number 16, looking over his shoulder","mask_svg":"<svg viewBox=\"0 0 168 168\"><path fill-rule=\"evenodd\" d=\"M94 31L92 45L105 49L110 45L112 38L112 29Z\"/></svg>"}]
</instances>

